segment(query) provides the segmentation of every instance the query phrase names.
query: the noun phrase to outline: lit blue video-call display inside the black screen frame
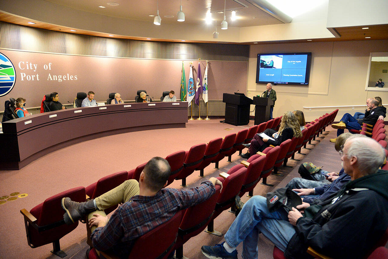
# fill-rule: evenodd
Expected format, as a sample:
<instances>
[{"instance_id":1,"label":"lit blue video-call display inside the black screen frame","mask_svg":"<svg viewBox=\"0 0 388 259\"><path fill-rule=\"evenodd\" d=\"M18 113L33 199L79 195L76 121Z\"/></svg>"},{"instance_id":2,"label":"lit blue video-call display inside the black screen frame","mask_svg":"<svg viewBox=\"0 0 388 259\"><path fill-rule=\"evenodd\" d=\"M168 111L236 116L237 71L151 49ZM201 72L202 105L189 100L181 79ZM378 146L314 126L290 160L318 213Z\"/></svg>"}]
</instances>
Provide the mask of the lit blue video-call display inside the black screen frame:
<instances>
[{"instance_id":1,"label":"lit blue video-call display inside the black screen frame","mask_svg":"<svg viewBox=\"0 0 388 259\"><path fill-rule=\"evenodd\" d=\"M259 81L304 83L307 55L260 56Z\"/></svg>"}]
</instances>

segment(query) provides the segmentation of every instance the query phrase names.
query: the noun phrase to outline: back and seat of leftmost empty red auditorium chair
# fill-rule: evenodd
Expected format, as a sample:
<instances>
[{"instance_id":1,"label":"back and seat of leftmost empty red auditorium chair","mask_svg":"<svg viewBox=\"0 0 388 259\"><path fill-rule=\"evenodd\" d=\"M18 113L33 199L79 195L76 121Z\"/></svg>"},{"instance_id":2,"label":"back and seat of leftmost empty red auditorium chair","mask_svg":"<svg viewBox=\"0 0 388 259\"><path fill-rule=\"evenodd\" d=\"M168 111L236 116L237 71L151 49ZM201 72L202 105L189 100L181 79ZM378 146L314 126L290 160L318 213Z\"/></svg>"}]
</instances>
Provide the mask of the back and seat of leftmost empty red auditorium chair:
<instances>
[{"instance_id":1,"label":"back and seat of leftmost empty red auditorium chair","mask_svg":"<svg viewBox=\"0 0 388 259\"><path fill-rule=\"evenodd\" d=\"M85 187L80 186L53 195L31 209L30 213L37 221L35 222L36 225L26 222L27 242L29 246L35 248L53 243L78 226L78 221L67 225L63 220L64 211L61 207L61 200L64 197L69 197L76 202L84 202L86 197Z\"/></svg>"}]
</instances>

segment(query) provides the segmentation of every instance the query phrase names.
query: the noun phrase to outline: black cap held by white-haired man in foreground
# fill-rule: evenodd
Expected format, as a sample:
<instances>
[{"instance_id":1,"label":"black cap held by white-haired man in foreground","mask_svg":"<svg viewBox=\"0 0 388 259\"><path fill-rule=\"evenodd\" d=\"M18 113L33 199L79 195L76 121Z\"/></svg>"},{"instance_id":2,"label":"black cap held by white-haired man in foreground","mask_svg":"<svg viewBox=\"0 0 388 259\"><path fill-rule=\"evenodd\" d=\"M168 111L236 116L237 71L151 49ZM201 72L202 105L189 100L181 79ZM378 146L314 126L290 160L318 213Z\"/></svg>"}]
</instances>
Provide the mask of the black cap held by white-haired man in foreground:
<instances>
[{"instance_id":1,"label":"black cap held by white-haired man in foreground","mask_svg":"<svg viewBox=\"0 0 388 259\"><path fill-rule=\"evenodd\" d=\"M292 207L302 204L302 199L298 194L290 188L279 188L275 192L268 192L267 207L270 212L274 212L283 207L287 212L291 211Z\"/></svg>"}]
</instances>

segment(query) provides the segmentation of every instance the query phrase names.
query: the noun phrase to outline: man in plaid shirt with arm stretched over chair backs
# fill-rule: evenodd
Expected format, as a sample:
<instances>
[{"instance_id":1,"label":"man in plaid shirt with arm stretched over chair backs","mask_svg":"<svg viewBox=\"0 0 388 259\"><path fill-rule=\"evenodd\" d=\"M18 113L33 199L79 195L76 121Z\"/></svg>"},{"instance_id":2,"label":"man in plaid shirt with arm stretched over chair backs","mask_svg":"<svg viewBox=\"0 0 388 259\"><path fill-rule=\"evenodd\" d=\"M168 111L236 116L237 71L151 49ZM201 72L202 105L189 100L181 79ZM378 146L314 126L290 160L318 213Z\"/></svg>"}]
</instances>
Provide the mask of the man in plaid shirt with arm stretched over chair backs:
<instances>
[{"instance_id":1,"label":"man in plaid shirt with arm stretched over chair backs","mask_svg":"<svg viewBox=\"0 0 388 259\"><path fill-rule=\"evenodd\" d=\"M87 202L62 199L64 220L72 224L88 216L92 244L100 251L111 250L128 258L136 238L171 219L181 209L199 204L215 193L217 178L186 189L163 188L171 168L161 157L154 157L144 167L139 182L127 180L116 188ZM123 203L107 218L104 209Z\"/></svg>"}]
</instances>

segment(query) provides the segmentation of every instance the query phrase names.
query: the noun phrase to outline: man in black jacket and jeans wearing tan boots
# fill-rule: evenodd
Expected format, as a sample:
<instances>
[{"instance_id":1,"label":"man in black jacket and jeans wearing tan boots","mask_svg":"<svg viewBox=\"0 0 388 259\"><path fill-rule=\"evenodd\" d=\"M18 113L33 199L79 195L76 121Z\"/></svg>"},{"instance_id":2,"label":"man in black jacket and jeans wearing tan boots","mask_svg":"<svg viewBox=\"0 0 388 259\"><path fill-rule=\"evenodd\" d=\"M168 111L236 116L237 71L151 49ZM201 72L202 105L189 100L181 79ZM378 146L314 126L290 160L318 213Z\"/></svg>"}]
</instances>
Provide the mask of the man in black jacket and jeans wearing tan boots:
<instances>
[{"instance_id":1,"label":"man in black jacket and jeans wearing tan boots","mask_svg":"<svg viewBox=\"0 0 388 259\"><path fill-rule=\"evenodd\" d=\"M368 108L369 111L365 111L365 117L363 119L356 120L349 113L345 113L341 118L341 121L336 124L331 124L334 129L337 129L337 136L340 136L344 129L361 129L363 123L371 124L374 126L378 119L384 119L385 109L378 107L378 100L373 99L369 101ZM384 107L385 108L385 107ZM330 139L330 142L336 142L335 138Z\"/></svg>"}]
</instances>

